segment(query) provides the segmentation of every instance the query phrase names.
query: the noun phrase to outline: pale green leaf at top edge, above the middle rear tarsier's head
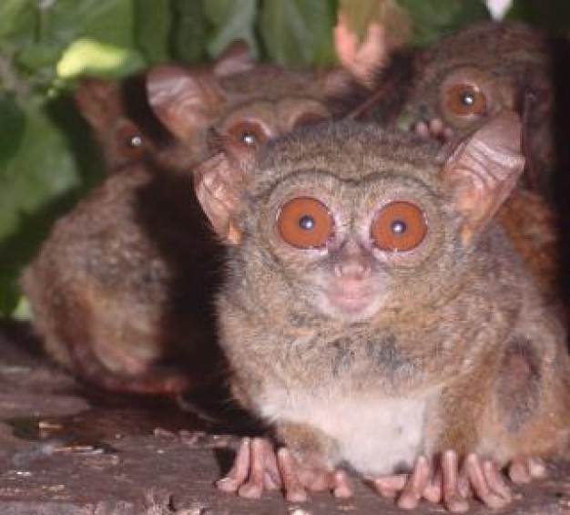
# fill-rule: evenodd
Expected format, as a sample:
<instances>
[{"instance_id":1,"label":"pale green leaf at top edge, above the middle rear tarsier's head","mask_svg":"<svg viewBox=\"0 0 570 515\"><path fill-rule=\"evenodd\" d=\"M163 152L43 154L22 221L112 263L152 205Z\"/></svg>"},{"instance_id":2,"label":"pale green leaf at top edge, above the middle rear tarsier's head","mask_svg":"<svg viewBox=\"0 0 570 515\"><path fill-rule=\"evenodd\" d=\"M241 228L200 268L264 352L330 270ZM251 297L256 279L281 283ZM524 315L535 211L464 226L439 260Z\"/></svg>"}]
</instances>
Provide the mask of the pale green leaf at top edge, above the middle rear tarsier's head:
<instances>
[{"instance_id":1,"label":"pale green leaf at top edge, above the middle rear tarsier's head","mask_svg":"<svg viewBox=\"0 0 570 515\"><path fill-rule=\"evenodd\" d=\"M254 36L257 0L205 0L204 15L213 27L207 49L217 57L236 39L246 41L254 56L259 49Z\"/></svg>"}]
</instances>

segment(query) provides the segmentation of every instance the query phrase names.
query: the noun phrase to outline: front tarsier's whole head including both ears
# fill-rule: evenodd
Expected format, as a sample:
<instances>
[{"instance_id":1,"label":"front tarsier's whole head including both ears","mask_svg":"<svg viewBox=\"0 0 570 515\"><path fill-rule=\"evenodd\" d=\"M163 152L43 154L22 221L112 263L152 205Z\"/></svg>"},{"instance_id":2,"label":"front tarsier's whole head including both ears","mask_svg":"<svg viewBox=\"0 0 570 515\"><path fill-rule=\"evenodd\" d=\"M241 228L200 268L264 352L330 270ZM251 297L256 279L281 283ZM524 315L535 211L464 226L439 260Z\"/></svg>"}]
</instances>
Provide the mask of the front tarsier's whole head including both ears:
<instances>
[{"instance_id":1,"label":"front tarsier's whole head including both ears","mask_svg":"<svg viewBox=\"0 0 570 515\"><path fill-rule=\"evenodd\" d=\"M453 289L524 167L520 136L507 111L451 153L413 134L325 123L257 157L229 143L198 167L198 199L243 255L230 275L251 298L269 306L277 282L290 306L358 322ZM217 187L205 194L205 183Z\"/></svg>"}]
</instances>

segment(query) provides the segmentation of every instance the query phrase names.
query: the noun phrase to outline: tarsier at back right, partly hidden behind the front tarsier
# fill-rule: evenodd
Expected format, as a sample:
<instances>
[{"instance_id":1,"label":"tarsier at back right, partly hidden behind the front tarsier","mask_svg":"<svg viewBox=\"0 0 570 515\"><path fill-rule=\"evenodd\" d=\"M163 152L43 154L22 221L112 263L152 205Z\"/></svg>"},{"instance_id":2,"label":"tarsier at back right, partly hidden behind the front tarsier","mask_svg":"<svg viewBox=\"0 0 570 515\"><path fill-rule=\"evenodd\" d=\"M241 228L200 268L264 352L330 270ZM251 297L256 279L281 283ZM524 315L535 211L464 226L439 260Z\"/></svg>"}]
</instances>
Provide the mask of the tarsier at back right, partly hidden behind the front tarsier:
<instances>
[{"instance_id":1,"label":"tarsier at back right, partly hidden behind the front tarsier","mask_svg":"<svg viewBox=\"0 0 570 515\"><path fill-rule=\"evenodd\" d=\"M367 89L356 100L355 118L442 140L471 134L502 109L524 118L523 189L514 191L499 217L545 294L555 296L555 94L547 36L520 23L483 22L433 46L396 53L385 69L371 61L371 74L375 66L381 70L372 95Z\"/></svg>"}]
</instances>

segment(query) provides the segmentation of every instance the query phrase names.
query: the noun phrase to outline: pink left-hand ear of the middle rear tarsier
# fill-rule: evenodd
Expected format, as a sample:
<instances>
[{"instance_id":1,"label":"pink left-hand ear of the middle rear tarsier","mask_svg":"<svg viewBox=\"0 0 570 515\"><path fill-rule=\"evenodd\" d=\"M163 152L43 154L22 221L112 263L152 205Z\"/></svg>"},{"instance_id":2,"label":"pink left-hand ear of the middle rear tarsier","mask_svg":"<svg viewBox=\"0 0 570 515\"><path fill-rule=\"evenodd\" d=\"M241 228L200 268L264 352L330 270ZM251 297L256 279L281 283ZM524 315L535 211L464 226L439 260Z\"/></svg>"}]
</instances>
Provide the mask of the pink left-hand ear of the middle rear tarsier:
<instances>
[{"instance_id":1,"label":"pink left-hand ear of the middle rear tarsier","mask_svg":"<svg viewBox=\"0 0 570 515\"><path fill-rule=\"evenodd\" d=\"M149 70L148 102L178 139L188 141L206 129L222 101L211 74L171 65Z\"/></svg>"}]
</instances>

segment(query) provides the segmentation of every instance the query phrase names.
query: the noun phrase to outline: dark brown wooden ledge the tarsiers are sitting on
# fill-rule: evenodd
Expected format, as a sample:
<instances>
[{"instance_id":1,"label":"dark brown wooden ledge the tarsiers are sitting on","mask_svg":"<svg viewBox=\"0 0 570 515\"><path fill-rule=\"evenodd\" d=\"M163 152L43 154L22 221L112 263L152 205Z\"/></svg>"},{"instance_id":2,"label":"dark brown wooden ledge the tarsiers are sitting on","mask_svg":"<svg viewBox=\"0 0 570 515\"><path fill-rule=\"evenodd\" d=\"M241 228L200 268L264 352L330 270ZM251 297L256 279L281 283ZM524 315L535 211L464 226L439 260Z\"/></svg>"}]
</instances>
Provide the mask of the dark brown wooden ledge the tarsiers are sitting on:
<instances>
[{"instance_id":1,"label":"dark brown wooden ledge the tarsiers are sitting on","mask_svg":"<svg viewBox=\"0 0 570 515\"><path fill-rule=\"evenodd\" d=\"M402 513L354 479L353 500L290 504L280 492L242 500L214 481L239 441L168 401L94 400L50 366L20 331L0 327L0 514L341 515ZM516 489L501 513L570 514L570 464ZM442 513L422 505L414 513ZM492 513L473 501L470 513Z\"/></svg>"}]
</instances>

